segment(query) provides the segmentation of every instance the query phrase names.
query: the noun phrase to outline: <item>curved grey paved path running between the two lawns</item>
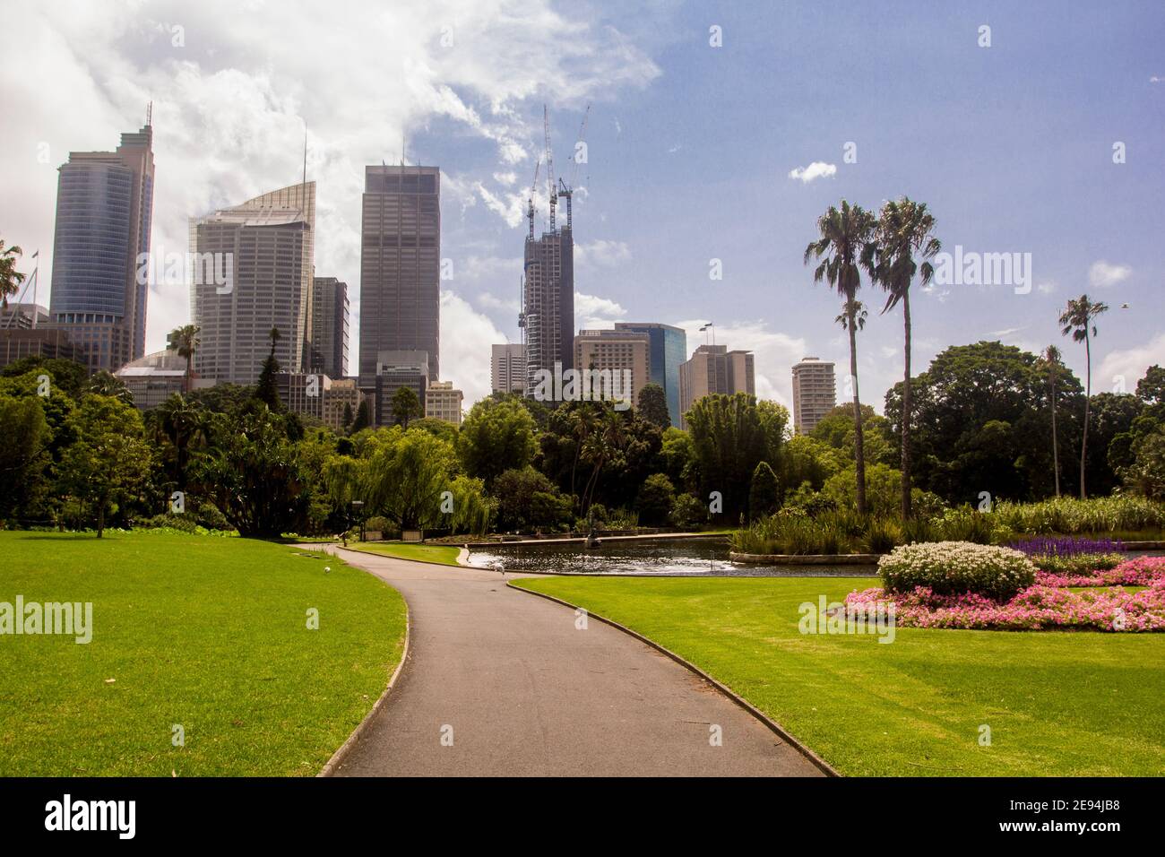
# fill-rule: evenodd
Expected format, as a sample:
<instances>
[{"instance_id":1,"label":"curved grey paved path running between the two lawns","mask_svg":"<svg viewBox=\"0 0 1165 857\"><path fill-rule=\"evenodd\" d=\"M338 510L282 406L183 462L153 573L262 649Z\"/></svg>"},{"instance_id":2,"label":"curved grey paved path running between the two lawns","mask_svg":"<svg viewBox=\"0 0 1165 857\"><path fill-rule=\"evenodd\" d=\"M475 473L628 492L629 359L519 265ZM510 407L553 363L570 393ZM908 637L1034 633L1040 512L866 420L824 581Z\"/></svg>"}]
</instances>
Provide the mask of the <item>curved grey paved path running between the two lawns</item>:
<instances>
[{"instance_id":1,"label":"curved grey paved path running between the two lawns","mask_svg":"<svg viewBox=\"0 0 1165 857\"><path fill-rule=\"evenodd\" d=\"M338 775L821 775L680 665L601 621L577 630L496 571L331 549L411 618L397 683Z\"/></svg>"}]
</instances>

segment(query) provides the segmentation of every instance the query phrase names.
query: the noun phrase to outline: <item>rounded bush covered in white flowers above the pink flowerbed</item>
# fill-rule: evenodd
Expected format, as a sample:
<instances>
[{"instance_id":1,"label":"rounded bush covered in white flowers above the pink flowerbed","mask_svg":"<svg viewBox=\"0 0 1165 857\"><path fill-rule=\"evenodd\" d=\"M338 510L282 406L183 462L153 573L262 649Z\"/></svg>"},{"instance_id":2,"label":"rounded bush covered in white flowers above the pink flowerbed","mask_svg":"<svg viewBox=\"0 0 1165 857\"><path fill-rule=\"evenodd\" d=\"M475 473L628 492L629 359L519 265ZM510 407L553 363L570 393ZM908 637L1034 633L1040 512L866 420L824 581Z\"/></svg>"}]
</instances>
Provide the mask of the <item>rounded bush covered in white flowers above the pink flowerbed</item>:
<instances>
[{"instance_id":1,"label":"rounded bush covered in white flowers above the pink flowerbed","mask_svg":"<svg viewBox=\"0 0 1165 857\"><path fill-rule=\"evenodd\" d=\"M1036 579L1036 567L1011 548L960 541L903 545L878 560L888 592L925 586L938 595L975 592L1007 600Z\"/></svg>"}]
</instances>

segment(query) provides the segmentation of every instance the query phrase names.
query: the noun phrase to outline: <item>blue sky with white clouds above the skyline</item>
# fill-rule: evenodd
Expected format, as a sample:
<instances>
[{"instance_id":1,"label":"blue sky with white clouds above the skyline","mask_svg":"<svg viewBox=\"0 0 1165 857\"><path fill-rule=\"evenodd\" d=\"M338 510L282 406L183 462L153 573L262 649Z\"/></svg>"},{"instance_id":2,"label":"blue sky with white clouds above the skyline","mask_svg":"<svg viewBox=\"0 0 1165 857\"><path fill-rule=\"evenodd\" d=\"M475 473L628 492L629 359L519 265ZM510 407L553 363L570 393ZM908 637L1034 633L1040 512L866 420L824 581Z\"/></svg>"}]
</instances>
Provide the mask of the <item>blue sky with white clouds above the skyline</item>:
<instances>
[{"instance_id":1,"label":"blue sky with white clouds above the skyline","mask_svg":"<svg viewBox=\"0 0 1165 857\"><path fill-rule=\"evenodd\" d=\"M306 128L316 274L350 286L352 371L363 167L403 146L442 168L440 363L468 407L489 392L489 345L518 339L546 105L556 173L577 188L578 328L677 324L692 351L713 322L718 344L755 353L761 398L791 405L805 356L839 364L840 398L840 300L803 254L841 198L876 211L905 195L953 257L1018 254L1010 278L916 286L916 374L948 345L1000 339L1057 344L1082 377L1057 324L1081 293L1111 308L1094 391L1165 365L1159 0L15 0L5 23L0 238L40 250L42 303L70 150L115 148L153 101L153 250L184 252L189 217L299 181ZM859 378L881 410L902 316L866 291ZM189 304L151 285L147 351Z\"/></svg>"}]
</instances>

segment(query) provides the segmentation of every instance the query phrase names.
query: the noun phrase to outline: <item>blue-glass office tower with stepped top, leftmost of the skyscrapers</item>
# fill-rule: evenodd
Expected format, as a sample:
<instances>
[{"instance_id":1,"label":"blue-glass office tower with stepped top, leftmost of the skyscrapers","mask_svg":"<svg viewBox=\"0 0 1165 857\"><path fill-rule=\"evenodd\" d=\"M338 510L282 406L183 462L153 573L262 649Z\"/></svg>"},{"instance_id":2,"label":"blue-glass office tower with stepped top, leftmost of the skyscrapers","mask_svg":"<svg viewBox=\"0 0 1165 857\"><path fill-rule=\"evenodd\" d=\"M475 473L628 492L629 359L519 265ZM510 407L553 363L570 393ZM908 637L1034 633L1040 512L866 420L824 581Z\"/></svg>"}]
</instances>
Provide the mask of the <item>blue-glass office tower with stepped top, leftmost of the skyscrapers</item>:
<instances>
[{"instance_id":1,"label":"blue-glass office tower with stepped top, leftmost of the skyscrapers","mask_svg":"<svg viewBox=\"0 0 1165 857\"><path fill-rule=\"evenodd\" d=\"M137 272L149 253L153 139L147 119L116 152L71 152L61 166L49 315L84 350L90 372L146 353L148 288Z\"/></svg>"}]
</instances>

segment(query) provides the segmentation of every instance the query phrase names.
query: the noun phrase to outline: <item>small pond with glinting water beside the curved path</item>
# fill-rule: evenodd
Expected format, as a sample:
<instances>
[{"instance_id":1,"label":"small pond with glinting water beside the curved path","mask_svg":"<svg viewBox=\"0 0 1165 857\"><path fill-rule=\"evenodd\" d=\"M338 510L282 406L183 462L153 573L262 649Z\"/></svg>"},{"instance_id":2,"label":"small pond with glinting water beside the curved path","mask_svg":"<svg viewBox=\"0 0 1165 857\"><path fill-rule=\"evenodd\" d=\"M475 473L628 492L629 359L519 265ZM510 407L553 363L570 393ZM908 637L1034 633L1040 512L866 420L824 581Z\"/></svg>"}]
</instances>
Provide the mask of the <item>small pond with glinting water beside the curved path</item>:
<instances>
[{"instance_id":1,"label":"small pond with glinting water beside the curved path","mask_svg":"<svg viewBox=\"0 0 1165 857\"><path fill-rule=\"evenodd\" d=\"M757 566L728 559L728 539L642 539L582 542L496 545L473 549L469 563L507 571L553 571L587 575L684 575L704 577L869 577L875 566Z\"/></svg>"}]
</instances>

